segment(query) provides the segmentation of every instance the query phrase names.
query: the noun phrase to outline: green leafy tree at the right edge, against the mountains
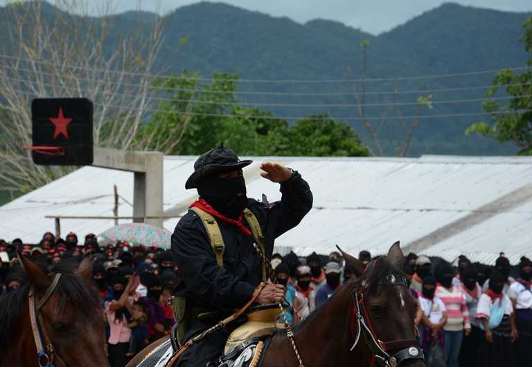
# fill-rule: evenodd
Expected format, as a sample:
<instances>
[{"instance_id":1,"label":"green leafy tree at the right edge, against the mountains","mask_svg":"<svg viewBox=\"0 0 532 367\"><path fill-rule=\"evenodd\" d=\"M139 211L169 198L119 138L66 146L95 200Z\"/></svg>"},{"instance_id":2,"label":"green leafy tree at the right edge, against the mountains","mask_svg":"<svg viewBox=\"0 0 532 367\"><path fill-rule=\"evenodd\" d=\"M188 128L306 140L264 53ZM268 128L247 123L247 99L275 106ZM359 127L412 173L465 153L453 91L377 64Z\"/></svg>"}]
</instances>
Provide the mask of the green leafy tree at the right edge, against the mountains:
<instances>
[{"instance_id":1,"label":"green leafy tree at the right edge, against the mountains","mask_svg":"<svg viewBox=\"0 0 532 367\"><path fill-rule=\"evenodd\" d=\"M532 17L524 22L524 30L521 40L525 50L532 54ZM532 57L526 66L532 68ZM512 96L506 106L491 99L502 88ZM513 142L519 147L518 154L532 156L532 70L518 75L510 68L499 72L482 107L490 114L493 124L484 121L472 124L465 131L466 135L477 133L499 142Z\"/></svg>"}]
</instances>

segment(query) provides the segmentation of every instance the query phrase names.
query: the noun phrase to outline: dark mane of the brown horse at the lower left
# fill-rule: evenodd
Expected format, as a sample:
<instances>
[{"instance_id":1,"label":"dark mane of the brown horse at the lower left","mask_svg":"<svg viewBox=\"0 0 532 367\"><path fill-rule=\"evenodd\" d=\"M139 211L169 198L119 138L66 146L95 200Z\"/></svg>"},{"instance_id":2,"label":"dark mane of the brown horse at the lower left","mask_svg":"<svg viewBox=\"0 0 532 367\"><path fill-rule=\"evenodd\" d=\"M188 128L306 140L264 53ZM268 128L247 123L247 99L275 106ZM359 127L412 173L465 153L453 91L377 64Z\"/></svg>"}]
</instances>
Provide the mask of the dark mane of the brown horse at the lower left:
<instances>
[{"instance_id":1,"label":"dark mane of the brown horse at the lower left","mask_svg":"<svg viewBox=\"0 0 532 367\"><path fill-rule=\"evenodd\" d=\"M63 312L67 303L73 305L88 322L96 321L100 317L100 302L96 290L91 285L80 279L73 272L72 265L59 265L51 272L61 272L62 276L55 294L59 295L57 304L58 312ZM48 272L50 274L50 272ZM0 297L0 354L12 345L12 335L19 328L19 318L24 303L28 302L28 292L30 285L24 274L21 274L23 283L16 290ZM29 314L26 315L29 317Z\"/></svg>"}]
</instances>

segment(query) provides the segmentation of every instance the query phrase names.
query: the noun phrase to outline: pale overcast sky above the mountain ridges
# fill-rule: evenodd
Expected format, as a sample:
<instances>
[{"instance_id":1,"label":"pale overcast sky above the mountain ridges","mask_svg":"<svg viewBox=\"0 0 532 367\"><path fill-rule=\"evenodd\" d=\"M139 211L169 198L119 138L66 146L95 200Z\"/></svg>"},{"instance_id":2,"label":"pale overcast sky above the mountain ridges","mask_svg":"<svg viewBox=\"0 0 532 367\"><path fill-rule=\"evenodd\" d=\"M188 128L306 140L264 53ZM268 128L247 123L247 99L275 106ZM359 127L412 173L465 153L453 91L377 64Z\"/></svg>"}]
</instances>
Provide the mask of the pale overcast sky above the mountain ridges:
<instances>
[{"instance_id":1,"label":"pale overcast sky above the mountain ridges","mask_svg":"<svg viewBox=\"0 0 532 367\"><path fill-rule=\"evenodd\" d=\"M141 1L143 10L168 12L179 6L198 1L190 0L148 0ZM290 17L305 23L322 18L341 21L348 26L378 34L436 8L448 1L439 0L226 0L235 6L265 12L274 17ZM531 0L459 0L463 5L478 6L514 12L532 10ZM135 8L139 1L114 0L117 11ZM159 6L157 6L159 3Z\"/></svg>"}]
</instances>

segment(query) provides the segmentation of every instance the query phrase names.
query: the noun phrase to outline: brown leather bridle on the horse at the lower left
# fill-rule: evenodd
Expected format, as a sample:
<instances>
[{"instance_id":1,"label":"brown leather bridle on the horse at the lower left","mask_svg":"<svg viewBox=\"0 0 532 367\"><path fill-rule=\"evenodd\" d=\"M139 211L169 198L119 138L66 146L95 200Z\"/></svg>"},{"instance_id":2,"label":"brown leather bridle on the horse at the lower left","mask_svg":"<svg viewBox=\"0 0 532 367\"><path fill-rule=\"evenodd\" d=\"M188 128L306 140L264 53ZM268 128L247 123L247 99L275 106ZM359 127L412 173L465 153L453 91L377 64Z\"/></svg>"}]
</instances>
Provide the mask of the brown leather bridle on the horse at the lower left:
<instances>
[{"instance_id":1,"label":"brown leather bridle on the horse at the lower left","mask_svg":"<svg viewBox=\"0 0 532 367\"><path fill-rule=\"evenodd\" d=\"M41 308L46 304L46 301L48 301L50 296L53 294L53 291L57 287L57 283L59 283L60 278L61 273L56 273L53 277L51 285L48 287L46 292L44 292L44 296L39 301L37 301L37 294L35 293L35 288L33 286L28 293L31 330L33 332L35 347L37 348L37 363L40 367L54 367L54 357L57 357L57 359L62 361L62 359L55 352L50 337L48 337L40 312Z\"/></svg>"}]
</instances>

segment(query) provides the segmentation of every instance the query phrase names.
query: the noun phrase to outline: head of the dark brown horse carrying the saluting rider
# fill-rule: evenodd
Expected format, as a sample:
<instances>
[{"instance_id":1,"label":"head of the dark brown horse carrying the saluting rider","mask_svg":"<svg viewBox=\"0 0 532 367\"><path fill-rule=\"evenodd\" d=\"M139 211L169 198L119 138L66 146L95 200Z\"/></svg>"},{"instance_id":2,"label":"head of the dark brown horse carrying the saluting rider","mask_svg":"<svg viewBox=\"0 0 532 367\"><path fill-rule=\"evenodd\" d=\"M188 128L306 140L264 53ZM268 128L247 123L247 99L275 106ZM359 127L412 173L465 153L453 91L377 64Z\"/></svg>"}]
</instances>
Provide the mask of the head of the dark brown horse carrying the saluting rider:
<instances>
[{"instance_id":1,"label":"head of the dark brown horse carrying the saluting rider","mask_svg":"<svg viewBox=\"0 0 532 367\"><path fill-rule=\"evenodd\" d=\"M367 266L340 251L356 275L348 285L353 290L353 348L364 350L372 366L425 366L414 325L418 306L401 270L405 258L399 242Z\"/></svg>"}]
</instances>

